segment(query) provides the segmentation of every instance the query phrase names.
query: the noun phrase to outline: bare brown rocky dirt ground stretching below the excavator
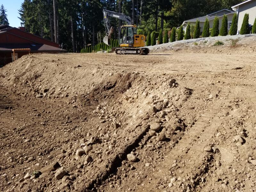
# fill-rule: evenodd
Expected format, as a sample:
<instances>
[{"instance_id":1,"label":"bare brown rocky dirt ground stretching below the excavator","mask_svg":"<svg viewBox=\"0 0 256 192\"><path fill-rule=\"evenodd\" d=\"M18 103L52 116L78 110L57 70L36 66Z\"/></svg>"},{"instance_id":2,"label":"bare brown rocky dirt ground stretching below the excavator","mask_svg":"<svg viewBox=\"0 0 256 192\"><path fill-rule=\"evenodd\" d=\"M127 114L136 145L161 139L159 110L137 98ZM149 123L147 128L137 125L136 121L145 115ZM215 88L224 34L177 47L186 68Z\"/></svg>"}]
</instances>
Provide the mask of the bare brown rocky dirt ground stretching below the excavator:
<instances>
[{"instance_id":1,"label":"bare brown rocky dirt ground stretching below the excavator","mask_svg":"<svg viewBox=\"0 0 256 192\"><path fill-rule=\"evenodd\" d=\"M255 191L255 46L4 66L0 191Z\"/></svg>"}]
</instances>

